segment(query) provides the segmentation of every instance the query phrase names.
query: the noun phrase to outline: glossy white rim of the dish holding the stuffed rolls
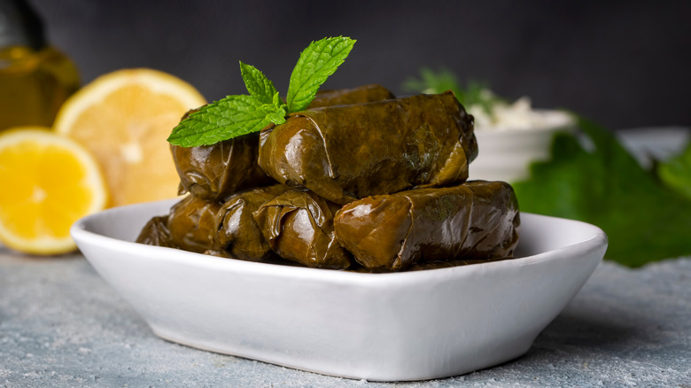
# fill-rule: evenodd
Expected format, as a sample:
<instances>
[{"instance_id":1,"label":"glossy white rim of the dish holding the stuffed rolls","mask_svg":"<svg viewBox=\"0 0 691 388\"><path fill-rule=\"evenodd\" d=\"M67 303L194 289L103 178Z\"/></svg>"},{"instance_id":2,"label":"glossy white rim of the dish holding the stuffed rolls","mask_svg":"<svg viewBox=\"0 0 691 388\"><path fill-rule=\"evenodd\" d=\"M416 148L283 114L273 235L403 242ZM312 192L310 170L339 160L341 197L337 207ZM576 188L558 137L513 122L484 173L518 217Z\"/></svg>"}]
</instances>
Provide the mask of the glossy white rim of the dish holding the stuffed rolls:
<instances>
[{"instance_id":1,"label":"glossy white rim of the dish holding the stuffed rolls","mask_svg":"<svg viewBox=\"0 0 691 388\"><path fill-rule=\"evenodd\" d=\"M127 206L117 206L105 209L101 212L89 214L85 217L82 217L82 219L74 222L70 229L70 234L74 238L74 241L78 243L78 245L84 243L90 245L97 245L104 247L108 250L122 252L126 254L134 253L136 251L137 255L143 256L147 258L147 260L175 261L180 264L191 264L195 267L205 267L214 270L240 271L248 275L271 275L275 277L285 277L291 279L300 278L305 280L316 279L320 281L334 283L370 283L381 282L384 279L386 279L387 281L408 282L413 279L415 279L415 281L419 279L424 279L428 276L437 278L439 275L445 273L451 275L459 272L467 273L467 275L472 275L476 274L478 271L485 271L488 268L503 268L532 265L547 260L555 260L563 257L568 258L571 256L577 256L580 253L591 252L601 248L602 245L608 244L608 237L605 234L605 232L593 224L584 221L576 221L535 213L521 212L522 218L527 216L542 220L568 221L570 223L578 224L580 225L580 227L586 228L586 234L591 236L575 244L568 244L556 248L554 250L540 252L529 256L517 257L511 260L500 260L486 263L477 263L468 266L435 268L420 271L403 271L370 274L352 271L326 270L322 268L291 267L280 266L276 264L268 265L267 263L262 262L220 258L212 255L206 255L203 253L188 252L164 246L139 244L134 241L127 241L115 237L109 237L105 236L104 234L99 234L95 231L89 230L89 223L102 218L113 218L115 214L122 212L126 208L129 211L136 211L137 209L143 210L148 207L159 205L162 203L169 202L173 204L175 203L175 200L179 200L179 198L170 198ZM165 252L165 258L161 258L162 252ZM565 252L568 252L568 254L562 254Z\"/></svg>"}]
</instances>

